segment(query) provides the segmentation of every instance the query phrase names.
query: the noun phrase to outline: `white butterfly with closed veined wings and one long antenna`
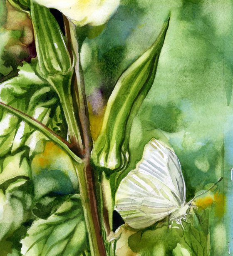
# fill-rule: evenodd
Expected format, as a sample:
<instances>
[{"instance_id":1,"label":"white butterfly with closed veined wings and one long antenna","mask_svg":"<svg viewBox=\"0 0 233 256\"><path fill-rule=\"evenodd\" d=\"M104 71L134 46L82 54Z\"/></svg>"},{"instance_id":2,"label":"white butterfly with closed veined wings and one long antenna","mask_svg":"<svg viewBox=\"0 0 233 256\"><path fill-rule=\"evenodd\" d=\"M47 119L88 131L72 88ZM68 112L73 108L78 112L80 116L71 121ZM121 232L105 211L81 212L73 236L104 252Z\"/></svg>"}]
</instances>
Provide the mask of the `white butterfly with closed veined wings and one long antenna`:
<instances>
[{"instance_id":1,"label":"white butterfly with closed veined wings and one long antenna","mask_svg":"<svg viewBox=\"0 0 233 256\"><path fill-rule=\"evenodd\" d=\"M186 186L178 157L163 142L151 139L136 169L121 181L115 209L134 229L151 226L166 216L182 225L187 210L194 206L192 201L186 203Z\"/></svg>"}]
</instances>

